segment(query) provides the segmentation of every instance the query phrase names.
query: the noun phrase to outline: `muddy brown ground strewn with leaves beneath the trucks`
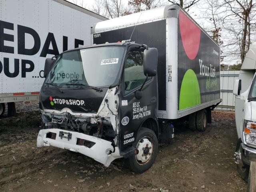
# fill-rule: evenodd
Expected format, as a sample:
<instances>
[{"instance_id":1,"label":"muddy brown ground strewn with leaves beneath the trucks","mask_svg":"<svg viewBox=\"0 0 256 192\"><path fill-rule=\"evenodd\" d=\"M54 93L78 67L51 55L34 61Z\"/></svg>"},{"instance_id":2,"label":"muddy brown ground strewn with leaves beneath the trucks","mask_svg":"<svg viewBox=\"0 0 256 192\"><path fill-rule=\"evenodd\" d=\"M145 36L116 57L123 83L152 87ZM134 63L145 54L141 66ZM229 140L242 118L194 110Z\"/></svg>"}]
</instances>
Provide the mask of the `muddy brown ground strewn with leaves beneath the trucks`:
<instances>
[{"instance_id":1,"label":"muddy brown ground strewn with leaves beneath the trucks","mask_svg":"<svg viewBox=\"0 0 256 192\"><path fill-rule=\"evenodd\" d=\"M160 147L156 162L134 174L122 159L106 168L91 158L53 147L36 148L40 111L17 106L16 117L0 119L0 191L240 192L236 172L234 112L213 112L206 132L176 127L175 139Z\"/></svg>"}]
</instances>

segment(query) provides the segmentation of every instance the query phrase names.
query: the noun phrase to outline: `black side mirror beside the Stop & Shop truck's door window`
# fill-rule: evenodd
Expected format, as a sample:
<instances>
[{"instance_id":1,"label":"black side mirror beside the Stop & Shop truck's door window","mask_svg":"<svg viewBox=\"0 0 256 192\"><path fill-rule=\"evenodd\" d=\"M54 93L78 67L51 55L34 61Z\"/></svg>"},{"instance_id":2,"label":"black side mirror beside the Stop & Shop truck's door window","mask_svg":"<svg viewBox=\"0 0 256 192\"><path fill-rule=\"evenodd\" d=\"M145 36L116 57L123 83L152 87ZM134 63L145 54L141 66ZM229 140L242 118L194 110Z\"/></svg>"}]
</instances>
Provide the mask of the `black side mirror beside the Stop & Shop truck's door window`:
<instances>
[{"instance_id":1,"label":"black side mirror beside the Stop & Shop truck's door window","mask_svg":"<svg viewBox=\"0 0 256 192\"><path fill-rule=\"evenodd\" d=\"M144 50L143 70L149 77L156 76L157 73L157 48L148 48Z\"/></svg>"}]
</instances>

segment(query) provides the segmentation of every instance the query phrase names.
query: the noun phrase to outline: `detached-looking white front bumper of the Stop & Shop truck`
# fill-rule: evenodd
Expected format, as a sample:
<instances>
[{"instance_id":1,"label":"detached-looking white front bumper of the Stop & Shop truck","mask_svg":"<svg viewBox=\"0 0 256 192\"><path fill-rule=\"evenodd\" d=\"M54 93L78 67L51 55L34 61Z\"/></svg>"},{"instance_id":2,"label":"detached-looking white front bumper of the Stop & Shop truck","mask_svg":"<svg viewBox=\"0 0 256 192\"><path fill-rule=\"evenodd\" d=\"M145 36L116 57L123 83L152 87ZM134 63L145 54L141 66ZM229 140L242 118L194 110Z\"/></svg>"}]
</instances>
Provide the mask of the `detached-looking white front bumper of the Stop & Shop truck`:
<instances>
[{"instance_id":1,"label":"detached-looking white front bumper of the Stop & Shop truck","mask_svg":"<svg viewBox=\"0 0 256 192\"><path fill-rule=\"evenodd\" d=\"M61 138L59 136L60 132L65 131L72 134L70 139ZM56 138L47 138L46 135L51 133L56 133ZM94 142L95 144L88 148L86 146L77 145L77 139L84 139L90 142ZM121 158L119 148L112 146L111 142L106 141L104 139L100 139L97 137L93 137L90 135L86 135L83 133L66 131L62 129L42 129L38 133L37 137L37 147L42 146L54 146L62 149L67 149L70 151L78 152L84 154L88 157L93 158L94 160L104 164L104 166L108 167L110 163L116 158ZM109 151L112 153L109 154Z\"/></svg>"}]
</instances>

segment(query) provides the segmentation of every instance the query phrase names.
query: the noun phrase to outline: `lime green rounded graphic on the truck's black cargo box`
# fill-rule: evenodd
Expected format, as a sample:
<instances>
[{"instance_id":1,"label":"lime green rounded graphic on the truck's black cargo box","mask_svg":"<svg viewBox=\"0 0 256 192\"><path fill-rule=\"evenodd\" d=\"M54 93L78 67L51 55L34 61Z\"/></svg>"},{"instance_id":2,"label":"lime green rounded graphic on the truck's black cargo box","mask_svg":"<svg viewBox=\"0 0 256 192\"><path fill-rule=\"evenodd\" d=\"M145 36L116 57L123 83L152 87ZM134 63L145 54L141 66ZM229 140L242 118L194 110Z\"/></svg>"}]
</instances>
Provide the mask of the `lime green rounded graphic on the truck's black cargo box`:
<instances>
[{"instance_id":1,"label":"lime green rounded graphic on the truck's black cargo box","mask_svg":"<svg viewBox=\"0 0 256 192\"><path fill-rule=\"evenodd\" d=\"M201 104L199 83L192 69L186 71L180 87L179 110Z\"/></svg>"}]
</instances>

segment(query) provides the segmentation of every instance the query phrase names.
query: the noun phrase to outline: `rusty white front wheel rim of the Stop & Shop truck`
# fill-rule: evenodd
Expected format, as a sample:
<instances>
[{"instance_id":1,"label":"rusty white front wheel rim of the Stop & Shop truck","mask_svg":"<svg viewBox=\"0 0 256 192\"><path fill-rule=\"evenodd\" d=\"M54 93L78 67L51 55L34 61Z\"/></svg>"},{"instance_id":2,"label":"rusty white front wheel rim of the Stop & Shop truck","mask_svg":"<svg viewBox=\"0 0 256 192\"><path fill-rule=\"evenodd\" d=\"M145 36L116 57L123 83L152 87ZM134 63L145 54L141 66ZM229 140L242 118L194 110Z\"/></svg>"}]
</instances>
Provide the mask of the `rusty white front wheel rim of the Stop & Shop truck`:
<instances>
[{"instance_id":1,"label":"rusty white front wheel rim of the Stop & Shop truck","mask_svg":"<svg viewBox=\"0 0 256 192\"><path fill-rule=\"evenodd\" d=\"M150 137L143 137L137 144L138 154L136 161L139 165L145 165L152 159L154 144Z\"/></svg>"}]
</instances>

